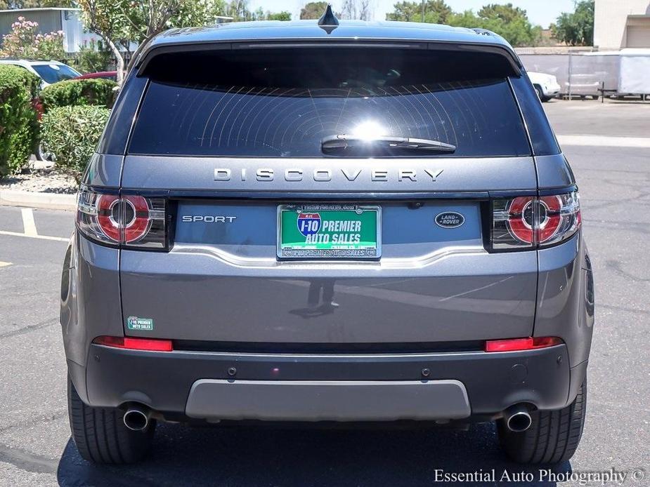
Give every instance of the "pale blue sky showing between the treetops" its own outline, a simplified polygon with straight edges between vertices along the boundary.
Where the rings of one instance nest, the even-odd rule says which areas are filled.
[[[342,0],[330,0],[337,10],[343,3]],[[370,0],[374,7],[375,20],[384,20],[386,12],[393,11],[393,5],[401,0]],[[524,8],[528,12],[528,18],[533,24],[541,25],[547,28],[551,22],[554,22],[557,16],[562,12],[573,11],[573,0],[446,0],[447,4],[454,11],[464,11],[468,9],[479,11],[486,4],[513,4],[516,7]],[[307,0],[250,0],[251,10],[260,7],[264,11],[280,12],[289,11],[292,18],[300,18],[300,8],[306,4]]]

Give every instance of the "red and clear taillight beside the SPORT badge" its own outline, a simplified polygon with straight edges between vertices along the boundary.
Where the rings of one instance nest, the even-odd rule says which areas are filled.
[[[162,198],[79,190],[77,226],[84,235],[105,244],[166,248],[165,218]]]

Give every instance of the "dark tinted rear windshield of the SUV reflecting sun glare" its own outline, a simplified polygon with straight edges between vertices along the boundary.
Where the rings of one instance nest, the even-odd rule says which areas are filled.
[[[324,138],[434,140],[328,156],[530,154],[502,55],[396,48],[268,48],[159,55],[129,153],[323,157]]]

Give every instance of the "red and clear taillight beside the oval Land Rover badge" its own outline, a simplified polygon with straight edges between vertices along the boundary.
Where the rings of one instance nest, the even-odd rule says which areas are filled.
[[[550,246],[568,239],[580,228],[580,196],[573,191],[495,199],[492,220],[493,251]]]

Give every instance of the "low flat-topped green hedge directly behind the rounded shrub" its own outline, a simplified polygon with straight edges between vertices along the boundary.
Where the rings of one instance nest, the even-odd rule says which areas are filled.
[[[111,108],[117,83],[110,79],[68,79],[46,86],[41,91],[43,109],[69,105],[102,105]]]

